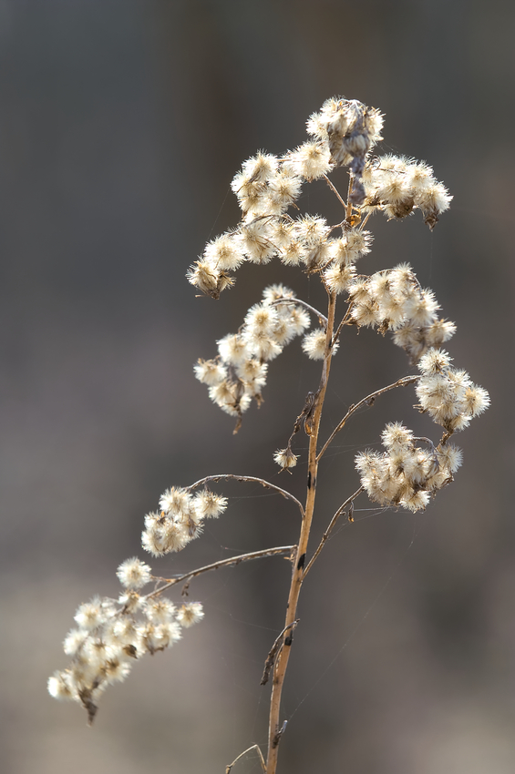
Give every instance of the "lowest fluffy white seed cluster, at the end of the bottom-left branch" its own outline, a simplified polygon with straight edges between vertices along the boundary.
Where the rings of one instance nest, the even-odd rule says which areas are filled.
[[[204,616],[200,602],[177,609],[169,599],[141,596],[139,589],[149,583],[151,571],[137,558],[119,565],[117,575],[124,587],[118,600],[96,596],[77,608],[77,628],[63,643],[71,663],[48,679],[50,695],[82,704],[90,723],[109,685],[124,680],[146,653],[172,646],[182,627]]]

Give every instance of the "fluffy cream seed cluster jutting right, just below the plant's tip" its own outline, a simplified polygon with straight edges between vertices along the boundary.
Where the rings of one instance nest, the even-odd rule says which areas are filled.
[[[382,210],[387,218],[406,218],[413,209],[422,210],[430,229],[452,199],[448,189],[424,161],[405,156],[383,156],[368,162],[363,173],[366,199],[364,211]]]

